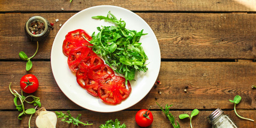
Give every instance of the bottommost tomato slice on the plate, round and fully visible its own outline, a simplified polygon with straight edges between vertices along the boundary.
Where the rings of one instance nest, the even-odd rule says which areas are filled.
[[[132,87],[129,81],[126,89],[124,77],[105,75],[99,82],[98,96],[102,101],[116,105],[129,97],[131,90]]]

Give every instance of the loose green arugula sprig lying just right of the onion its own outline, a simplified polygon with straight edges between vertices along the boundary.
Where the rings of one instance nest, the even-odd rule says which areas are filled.
[[[89,124],[87,121],[86,121],[86,123],[83,123],[83,122],[79,121],[81,114],[78,114],[77,117],[74,118],[70,114],[69,110],[67,111],[67,115],[62,113],[62,111],[60,111],[60,112],[55,111],[55,114],[57,115],[58,118],[63,118],[63,119],[61,119],[61,121],[63,121],[63,122],[73,123],[74,125],[77,125],[77,126],[78,126],[78,124],[92,125],[92,124]]]

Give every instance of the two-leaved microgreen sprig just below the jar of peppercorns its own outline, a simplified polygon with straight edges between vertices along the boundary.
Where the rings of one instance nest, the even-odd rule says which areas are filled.
[[[38,51],[38,41],[36,43],[37,43],[36,52],[34,53],[34,55],[32,55],[32,57],[28,58],[28,55],[25,52],[23,52],[23,51],[19,52],[20,59],[24,60],[24,61],[27,61],[27,63],[26,63],[26,70],[27,71],[29,71],[33,66],[33,63],[30,59],[35,57],[35,55]]]

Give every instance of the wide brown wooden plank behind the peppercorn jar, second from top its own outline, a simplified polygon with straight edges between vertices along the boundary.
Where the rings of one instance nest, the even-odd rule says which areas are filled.
[[[50,59],[54,37],[75,13],[0,14],[0,59],[31,56],[36,43],[26,37],[23,27],[29,17],[42,15],[54,22],[49,38],[41,42],[34,59]],[[256,14],[247,13],[137,13],[153,29],[162,59],[254,59],[256,55]],[[13,20],[16,19],[16,20]],[[55,22],[59,19],[59,22]],[[166,22],[168,21],[168,22]],[[24,24],[23,24],[24,23]],[[188,26],[189,25],[189,26]],[[147,42],[143,42],[147,43]],[[10,52],[11,51],[11,52]]]

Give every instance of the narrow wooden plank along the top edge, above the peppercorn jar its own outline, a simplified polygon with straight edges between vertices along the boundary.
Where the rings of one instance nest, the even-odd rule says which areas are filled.
[[[19,4],[17,4],[19,3]],[[31,5],[33,3],[33,6]],[[91,6],[97,5],[115,5],[121,6],[134,11],[255,11],[250,6],[245,6],[236,1],[189,1],[189,0],[173,0],[173,1],[1,1],[0,11],[81,11]]]

